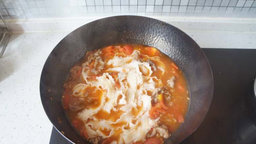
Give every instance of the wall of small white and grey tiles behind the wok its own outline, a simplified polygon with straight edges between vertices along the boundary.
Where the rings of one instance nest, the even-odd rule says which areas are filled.
[[[123,14],[256,17],[256,0],[2,0],[0,12],[6,19]]]

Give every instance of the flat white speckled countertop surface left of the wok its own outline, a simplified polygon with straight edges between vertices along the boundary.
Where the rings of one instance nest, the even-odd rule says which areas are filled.
[[[52,124],[40,99],[46,58],[68,32],[13,33],[0,59],[0,143],[49,143]]]

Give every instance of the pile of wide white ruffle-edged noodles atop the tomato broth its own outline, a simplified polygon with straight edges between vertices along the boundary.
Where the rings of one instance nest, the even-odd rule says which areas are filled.
[[[156,120],[151,120],[148,116],[148,111],[152,107],[152,99],[151,96],[147,95],[147,91],[162,87],[162,83],[157,77],[151,77],[153,71],[149,63],[139,61],[139,54],[139,51],[134,51],[127,57],[114,56],[107,63],[107,65],[112,65],[112,68],[106,70],[101,76],[96,76],[96,80],[88,79],[90,78],[90,70],[88,68],[83,69],[82,76],[87,84],[75,86],[74,94],[81,96],[84,94],[83,90],[88,86],[106,91],[101,98],[99,107],[85,109],[78,113],[78,118],[85,122],[89,138],[111,137],[119,129],[122,130],[122,133],[119,139],[112,143],[130,144],[144,140],[150,128],[157,125]],[[161,62],[160,57],[149,57],[149,59]],[[109,74],[110,72],[118,72],[119,88],[115,86],[115,80]],[[107,113],[110,113],[111,110],[121,110],[124,113],[116,121],[111,121],[96,118],[94,115],[100,110]],[[120,123],[122,124],[119,126]],[[116,124],[118,127],[114,126]],[[124,128],[127,125],[129,125],[129,129]],[[103,132],[105,130],[110,133],[106,134]]]

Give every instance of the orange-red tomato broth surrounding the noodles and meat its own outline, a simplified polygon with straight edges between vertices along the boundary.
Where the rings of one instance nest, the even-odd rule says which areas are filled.
[[[141,54],[148,55],[149,57],[152,57],[152,56],[160,57],[161,61],[165,64],[165,73],[161,75],[161,71],[157,69],[157,71],[154,71],[152,73],[152,76],[157,76],[157,78],[162,81],[163,86],[167,86],[167,80],[170,79],[170,77],[175,76],[176,80],[174,85],[174,92],[172,92],[170,88],[168,89],[168,92],[171,93],[172,95],[171,99],[166,100],[165,99],[166,95],[163,94],[163,103],[165,106],[168,107],[168,110],[165,110],[166,113],[159,113],[161,125],[167,126],[169,134],[173,134],[179,128],[181,123],[183,123],[187,113],[188,104],[189,104],[188,87],[187,87],[187,82],[183,73],[170,57],[160,52],[156,48],[152,48],[144,45],[138,45],[138,44],[112,45],[112,46],[103,48],[101,56],[103,60],[107,62],[109,59],[114,57],[114,53],[117,53],[119,56],[130,55],[132,51],[129,49],[128,50],[124,49],[126,46],[131,46],[132,51],[138,50],[140,51]],[[111,48],[111,50],[109,48]],[[87,61],[88,54],[92,52],[95,52],[95,51],[87,52],[86,55],[75,66],[81,67],[81,64]],[[141,58],[144,61],[147,60],[146,57],[141,56]],[[155,62],[155,64],[156,66],[158,66],[157,62]],[[106,65],[105,69],[102,70],[99,73],[99,75],[102,75],[102,73],[104,73],[105,70],[107,70],[108,68],[109,66]],[[65,88],[65,92],[63,93],[63,97],[62,97],[62,105],[69,121],[71,122],[75,130],[78,131],[81,136],[83,136],[84,138],[87,138],[88,135],[83,131],[84,123],[82,120],[79,120],[76,116],[80,111],[86,108],[97,107],[98,104],[100,103],[100,99],[101,99],[100,97],[102,96],[103,92],[100,92],[98,90],[96,91],[96,93],[92,94],[95,88],[88,88],[86,92],[89,93],[91,97],[96,97],[95,100],[90,103],[86,101],[84,101],[83,103],[80,103],[80,106],[83,107],[83,109],[80,111],[76,111],[76,112],[70,111],[68,108],[68,105],[78,101],[78,99],[74,95],[72,95],[71,90],[75,85],[79,83],[86,83],[83,77],[81,76],[81,74],[79,74],[80,73],[79,70],[77,71],[77,73],[78,73],[78,76],[77,78],[75,78],[75,80],[69,77],[66,82],[68,85],[70,84],[71,87]],[[91,79],[93,79],[95,76],[93,74],[91,75],[92,75]],[[150,95],[150,92],[148,94]],[[153,100],[151,103],[152,103],[152,107],[156,105],[156,103]],[[108,114],[105,111],[101,110],[99,113],[96,114],[96,117],[100,119],[106,119],[106,120],[117,120],[122,113],[123,112],[121,111],[115,112],[111,110],[111,113]],[[134,111],[135,115],[136,113],[138,112]],[[122,126],[122,123],[113,124],[113,126],[120,127]],[[102,131],[102,132],[109,134],[108,131]],[[117,130],[117,132],[112,137],[105,139],[105,141],[103,140],[104,141],[103,143],[110,143],[112,140],[117,140],[120,133],[121,131]],[[160,137],[160,135],[157,135],[156,137],[164,141],[164,139]],[[152,138],[151,138],[150,142],[154,142],[154,139],[152,141]],[[141,142],[141,143],[144,143],[144,142]]]

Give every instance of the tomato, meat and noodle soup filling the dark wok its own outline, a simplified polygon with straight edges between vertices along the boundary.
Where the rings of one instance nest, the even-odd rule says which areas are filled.
[[[71,125],[95,144],[161,144],[184,122],[189,103],[174,61],[137,44],[88,51],[63,86]]]

